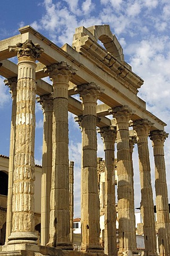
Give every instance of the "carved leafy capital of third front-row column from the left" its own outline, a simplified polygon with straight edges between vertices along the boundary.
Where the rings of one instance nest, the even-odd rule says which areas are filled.
[[[99,98],[99,95],[103,92],[103,89],[100,88],[95,82],[91,82],[89,84],[81,84],[74,87],[74,91],[80,94],[80,98],[85,98],[87,100]],[[94,100],[96,100],[94,99]]]

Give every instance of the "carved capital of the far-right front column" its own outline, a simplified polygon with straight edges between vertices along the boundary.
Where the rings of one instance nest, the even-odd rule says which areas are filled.
[[[151,131],[149,133],[149,138],[152,141],[152,146],[164,145],[164,142],[166,138],[168,138],[168,135],[169,134],[163,130]]]

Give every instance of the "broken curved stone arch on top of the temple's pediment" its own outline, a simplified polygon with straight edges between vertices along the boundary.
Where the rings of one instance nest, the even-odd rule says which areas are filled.
[[[98,25],[87,28],[90,33],[104,44],[106,50],[110,52],[115,58],[124,61],[124,54],[121,44],[118,42],[115,35],[112,34],[109,25]]]

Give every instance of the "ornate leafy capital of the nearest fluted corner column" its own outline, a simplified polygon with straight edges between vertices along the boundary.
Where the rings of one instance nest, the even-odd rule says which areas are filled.
[[[19,61],[32,60],[35,61],[44,52],[39,44],[33,44],[32,40],[27,39],[24,43],[17,43],[14,46],[8,46],[10,52],[17,53]]]

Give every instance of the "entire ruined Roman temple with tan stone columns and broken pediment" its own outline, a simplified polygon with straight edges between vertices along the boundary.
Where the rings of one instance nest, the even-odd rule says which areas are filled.
[[[138,97],[143,80],[124,61],[108,25],[79,27],[72,46],[58,47],[30,26],[0,41],[0,75],[12,93],[6,241],[8,255],[139,255],[135,242],[133,146],[138,145],[145,256],[157,256],[148,137],[155,159],[159,255],[169,256],[169,209],[164,160],[166,125]],[[98,44],[98,40],[104,47]],[[18,65],[8,60],[18,57]],[[42,78],[50,77],[50,85]],[[36,99],[36,94],[39,95]],[[80,95],[81,101],[75,99]],[[98,101],[98,99],[100,101]],[[41,245],[35,233],[35,103],[44,115]],[[82,134],[81,252],[73,251],[73,203],[69,168],[68,111]],[[110,119],[107,116],[112,115]],[[133,129],[129,129],[129,127]],[[105,247],[99,243],[97,131],[105,151]],[[117,145],[117,212],[114,150]],[[70,170],[70,173],[69,173]],[[70,174],[70,176],[69,176]],[[91,254],[94,253],[94,254]]]

